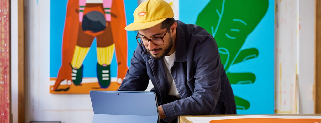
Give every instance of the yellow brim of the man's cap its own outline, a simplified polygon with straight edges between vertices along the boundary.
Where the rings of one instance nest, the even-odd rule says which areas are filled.
[[[162,19],[159,19],[159,20],[143,22],[143,23],[135,23],[135,22],[133,22],[133,23],[127,25],[125,27],[125,30],[127,30],[127,31],[136,31],[136,30],[148,29],[148,28],[151,28],[153,26],[156,26],[157,24],[160,24],[161,22],[163,22],[167,18],[168,17],[162,18]]]

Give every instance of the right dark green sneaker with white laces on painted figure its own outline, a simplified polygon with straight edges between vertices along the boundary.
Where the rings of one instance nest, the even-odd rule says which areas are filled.
[[[97,63],[97,78],[100,87],[107,88],[110,85],[110,65]]]

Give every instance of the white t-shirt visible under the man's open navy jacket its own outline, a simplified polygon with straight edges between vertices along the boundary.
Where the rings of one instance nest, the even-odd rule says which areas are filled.
[[[175,52],[169,56],[164,56],[164,64],[165,64],[165,72],[167,76],[167,81],[169,82],[169,95],[176,96],[177,98],[180,98],[178,94],[177,87],[175,85],[174,79],[172,77],[172,74],[170,72],[170,68],[172,67],[175,59]]]

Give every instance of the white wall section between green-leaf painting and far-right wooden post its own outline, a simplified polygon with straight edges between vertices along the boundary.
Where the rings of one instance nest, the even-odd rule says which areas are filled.
[[[315,0],[276,4],[275,113],[314,113]]]

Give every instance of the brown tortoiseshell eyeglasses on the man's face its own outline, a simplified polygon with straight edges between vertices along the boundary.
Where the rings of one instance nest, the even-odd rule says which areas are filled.
[[[154,45],[158,45],[158,46],[164,45],[163,39],[164,39],[167,31],[169,30],[169,28],[167,28],[163,37],[153,37],[151,39],[148,39],[147,37],[138,37],[138,35],[139,35],[139,31],[138,31],[137,36],[136,36],[136,40],[137,40],[138,44],[144,45],[144,46],[148,45],[148,41],[151,41]]]

